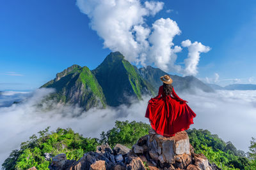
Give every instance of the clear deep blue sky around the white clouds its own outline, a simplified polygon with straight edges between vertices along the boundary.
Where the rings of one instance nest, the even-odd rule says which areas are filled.
[[[256,83],[256,1],[163,2],[156,15],[143,17],[143,25],[170,18],[181,31],[175,45],[189,39],[209,46],[200,53],[197,78],[219,85]],[[71,0],[1,1],[0,90],[36,89],[72,64],[97,67],[111,50],[103,48],[99,27],[92,29],[93,17]],[[182,47],[175,64],[184,67],[187,56]]]

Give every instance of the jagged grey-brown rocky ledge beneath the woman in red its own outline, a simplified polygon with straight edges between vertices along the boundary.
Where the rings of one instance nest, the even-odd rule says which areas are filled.
[[[69,170],[218,170],[215,164],[210,164],[201,153],[194,153],[189,143],[186,131],[178,132],[175,136],[165,138],[150,130],[148,135],[141,137],[129,148],[117,144],[113,150],[108,144],[97,146],[96,152],[85,153],[76,160],[67,160],[64,153],[52,158],[49,169]]]

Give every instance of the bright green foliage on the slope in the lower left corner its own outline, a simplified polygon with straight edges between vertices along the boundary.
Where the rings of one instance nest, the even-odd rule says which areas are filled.
[[[44,153],[50,153],[52,157],[65,153],[67,159],[78,160],[83,154],[95,151],[99,145],[96,138],[83,138],[72,129],[58,128],[56,132],[49,132],[49,127],[34,134],[29,141],[21,143],[20,150],[13,150],[8,159],[2,164],[3,169],[28,169],[35,166],[36,169],[48,169],[50,162],[45,160]]]

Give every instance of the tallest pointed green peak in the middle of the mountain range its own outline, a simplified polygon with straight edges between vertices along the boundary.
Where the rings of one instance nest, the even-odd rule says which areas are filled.
[[[129,104],[143,94],[154,93],[154,87],[141,78],[120,52],[111,52],[92,73],[97,78],[109,106]]]

